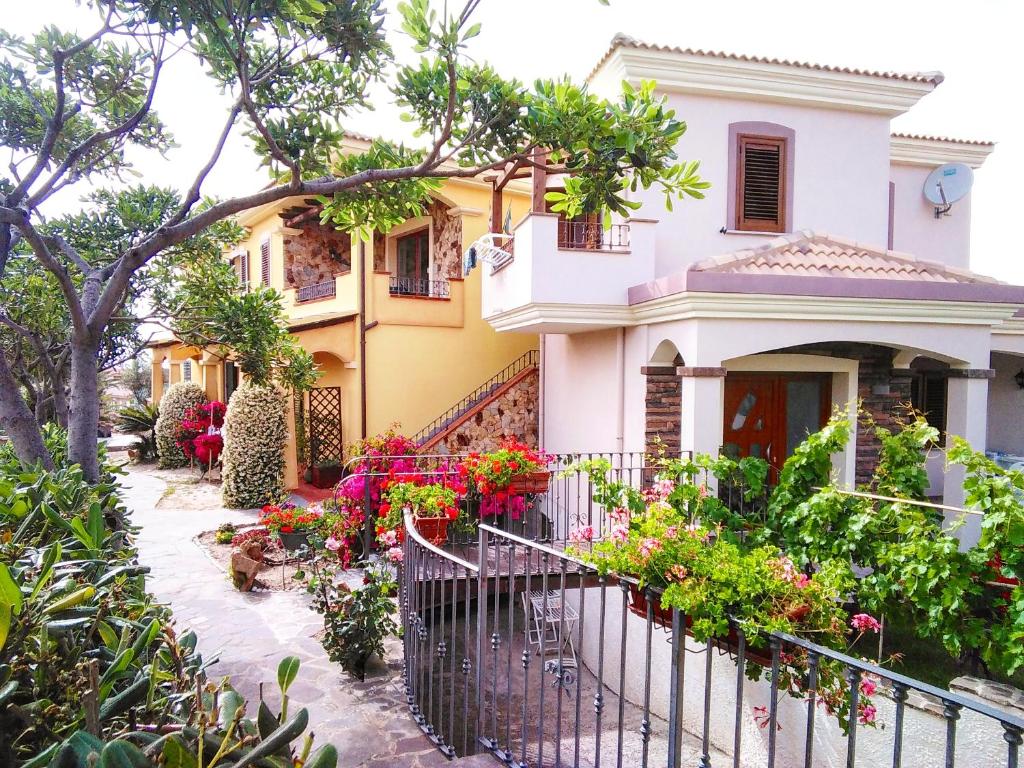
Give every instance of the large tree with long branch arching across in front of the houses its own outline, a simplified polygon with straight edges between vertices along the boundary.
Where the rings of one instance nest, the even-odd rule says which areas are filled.
[[[59,290],[70,336],[69,450],[88,478],[99,473],[96,360],[133,282],[159,254],[234,214],[319,197],[325,220],[365,237],[421,210],[439,179],[528,166],[537,152],[573,174],[555,201],[570,213],[627,212],[637,187],[659,187],[668,201],[701,196],[696,164],[675,154],[686,126],[650,86],[606,101],[567,80],[525,87],[505,79],[467,55],[478,3],[456,13],[446,5],[438,13],[428,0],[399,4],[401,30],[421,54],[409,66],[394,62],[380,0],[94,0],[99,22],[85,37],[56,27],[28,39],[0,32],[0,145],[10,153],[0,176],[0,280],[20,246]],[[46,211],[61,190],[129,173],[130,147],[171,144],[153,104],[164,66],[178,53],[196,56],[230,94],[209,158],[174,205],[139,222],[137,237],[83,251],[46,226]],[[425,148],[374,141],[339,156],[341,121],[385,80]],[[203,205],[207,177],[241,130],[274,182]],[[3,350],[0,425],[23,459],[48,463],[14,370]]]

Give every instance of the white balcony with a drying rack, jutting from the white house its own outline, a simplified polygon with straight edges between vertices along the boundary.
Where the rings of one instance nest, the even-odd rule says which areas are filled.
[[[628,289],[654,276],[651,219],[605,229],[530,213],[512,238],[478,243],[483,317],[498,331],[578,333],[629,322]]]

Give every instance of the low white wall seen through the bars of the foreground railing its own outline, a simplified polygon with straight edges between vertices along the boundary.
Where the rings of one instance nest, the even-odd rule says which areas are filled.
[[[604,625],[604,681],[611,691],[620,689],[618,666],[626,659],[626,698],[642,707],[644,701],[644,669],[647,626],[646,621],[632,613],[625,613],[626,647],[622,646],[622,593],[617,586],[606,587],[606,620]],[[585,591],[585,615],[600,615],[600,588]],[[579,609],[579,595],[573,590],[568,601]],[[597,669],[598,646],[602,633],[591,627],[582,637],[574,637],[580,662],[592,672]],[[672,680],[671,636],[654,629],[651,640],[650,701],[651,712],[662,720],[669,716],[669,691]],[[683,728],[697,737],[703,726],[705,674],[708,652],[706,646],[692,638],[686,639],[684,662],[685,686],[683,689]],[[736,706],[736,664],[718,649],[713,649],[712,662],[712,718],[710,737],[712,745],[733,754],[733,735]],[[744,680],[743,707],[740,727],[742,766],[767,765],[768,732],[755,721],[754,708],[769,705],[770,687],[767,680]],[[876,728],[857,730],[857,765],[890,765],[892,763],[893,723],[895,703],[884,693],[877,693],[872,700],[878,708]],[[779,696],[775,765],[804,765],[804,739],[807,726],[807,703],[786,694]],[[653,737],[667,738],[665,724],[655,721]],[[904,759],[914,766],[942,765],[945,759],[945,721],[939,715],[907,708],[904,721]],[[815,768],[840,768],[846,765],[846,738],[835,718],[817,709],[814,725]],[[1006,762],[1006,742],[997,723],[964,711],[956,727],[956,765],[963,768],[989,768]]]

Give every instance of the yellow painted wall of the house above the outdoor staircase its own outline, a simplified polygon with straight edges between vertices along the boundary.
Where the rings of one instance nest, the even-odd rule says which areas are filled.
[[[447,181],[438,198],[462,216],[462,251],[489,230],[490,186],[486,183]],[[274,208],[250,212],[241,221],[251,228],[250,238],[240,248],[249,251],[250,283],[260,283],[260,243],[271,244],[270,285],[284,290],[284,222],[278,215],[283,208],[300,201],[287,201]],[[529,206],[528,193],[507,189],[504,211],[511,205],[512,221],[521,219]],[[338,275],[338,295],[334,299],[297,303],[295,291],[284,291],[285,308],[293,321],[319,318],[353,311],[358,306],[358,247],[353,244],[352,269]],[[390,296],[388,278],[374,273],[372,249],[367,248],[367,420],[368,433],[376,434],[393,423],[413,434],[485,380],[499,373],[519,355],[538,348],[538,338],[530,334],[498,334],[480,317],[480,280],[478,266],[465,280],[451,282],[451,297],[435,298]],[[376,325],[373,325],[376,324]],[[358,317],[336,325],[301,331],[296,334],[302,346],[322,365],[319,386],[342,389],[342,424],[346,443],[360,437]],[[160,350],[161,352],[163,350]],[[195,354],[180,346],[170,348],[172,360]],[[159,375],[155,355],[154,379]],[[175,378],[172,364],[171,380]],[[198,368],[198,367],[197,367]],[[212,381],[220,387],[223,373],[207,373],[208,389]],[[178,375],[180,372],[178,371]],[[211,378],[212,377],[212,378]],[[155,388],[156,392],[157,389]],[[211,396],[213,396],[211,394]],[[290,429],[294,430],[294,425]],[[294,431],[293,431],[294,434]],[[290,446],[287,478],[289,487],[298,481]]]

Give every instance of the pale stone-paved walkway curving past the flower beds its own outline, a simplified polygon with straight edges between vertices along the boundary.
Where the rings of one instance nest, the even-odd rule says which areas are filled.
[[[251,702],[263,684],[274,708],[278,663],[298,656],[291,707],[309,710],[316,743],[338,748],[339,768],[451,765],[409,716],[398,640],[389,643],[387,669],[360,683],[328,659],[315,637],[322,618],[304,592],[237,592],[194,541],[223,522],[254,522],[255,512],[222,509],[219,486],[197,485],[184,472],[131,468],[124,484],[132,520],[141,527],[139,557],[153,569],[150,590],[170,605],[179,631],[196,630],[204,656],[219,658],[212,675],[230,677]]]

